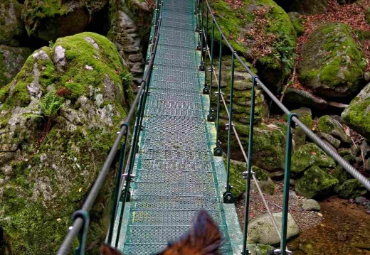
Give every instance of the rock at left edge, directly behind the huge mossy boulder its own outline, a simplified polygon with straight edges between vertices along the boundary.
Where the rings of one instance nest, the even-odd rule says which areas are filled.
[[[13,80],[31,53],[29,48],[0,45],[0,88]]]

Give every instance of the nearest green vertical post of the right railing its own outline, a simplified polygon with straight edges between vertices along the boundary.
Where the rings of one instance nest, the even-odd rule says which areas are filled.
[[[290,178],[290,161],[292,159],[292,118],[298,117],[297,114],[287,114],[287,140],[285,143],[285,171],[284,171],[284,200],[282,204],[282,227],[281,227],[281,255],[287,253],[287,214],[289,206],[289,178]]]

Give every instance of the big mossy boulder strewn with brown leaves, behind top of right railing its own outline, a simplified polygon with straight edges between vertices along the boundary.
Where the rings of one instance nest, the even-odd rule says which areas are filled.
[[[287,13],[273,0],[238,3],[238,8],[223,0],[212,0],[210,4],[234,50],[248,60],[256,60],[261,79],[280,89],[295,61],[295,28]],[[215,33],[215,36],[219,40],[221,35]]]

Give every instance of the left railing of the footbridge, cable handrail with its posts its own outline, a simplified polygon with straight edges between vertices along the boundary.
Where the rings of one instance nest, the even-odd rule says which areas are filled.
[[[153,33],[153,38],[152,38],[152,44],[150,45],[150,50],[149,50],[149,54],[150,54],[149,63],[144,73],[144,77],[140,82],[137,95],[134,99],[134,102],[132,103],[132,107],[129,109],[129,113],[127,114],[127,117],[124,119],[124,121],[122,121],[122,125],[120,126],[120,131],[117,132],[117,137],[115,139],[115,142],[113,143],[113,146],[110,149],[110,153],[108,154],[107,159],[105,160],[105,163],[102,166],[100,173],[97,176],[97,179],[95,180],[95,183],[88,194],[88,197],[83,203],[82,209],[76,211],[73,214],[73,225],[69,228],[69,232],[67,233],[63,243],[58,249],[58,253],[57,253],[58,255],[68,254],[76,237],[78,237],[79,246],[78,248],[75,249],[75,254],[78,254],[78,255],[85,254],[85,242],[86,242],[86,236],[88,232],[88,225],[90,222],[88,212],[91,210],[91,207],[93,207],[97,194],[100,192],[102,185],[105,179],[107,178],[108,173],[110,173],[110,168],[115,159],[117,151],[121,147],[120,148],[120,163],[119,163],[119,167],[117,170],[115,194],[114,194],[114,200],[113,200],[113,206],[112,206],[112,218],[110,221],[110,228],[107,234],[107,243],[111,244],[112,242],[112,234],[113,234],[113,228],[114,228],[113,226],[115,223],[115,217],[117,215],[117,208],[121,200],[121,196],[122,196],[121,190],[122,190],[124,183],[126,183],[124,200],[122,202],[122,212],[123,212],[124,207],[125,207],[125,201],[127,200],[127,193],[129,190],[130,179],[132,177],[131,175],[132,175],[132,168],[134,166],[134,155],[137,153],[136,145],[137,145],[139,134],[142,128],[142,119],[144,117],[145,102],[147,99],[149,83],[152,77],[154,59],[155,59],[155,54],[157,52],[157,45],[159,41],[159,28],[162,24],[162,3],[163,2],[160,0],[156,1],[156,6],[154,9],[154,33]],[[135,112],[137,116],[136,116],[136,125],[134,126],[134,140],[132,141],[132,147],[131,147],[133,149],[130,150],[129,161],[127,162],[125,173],[122,175],[122,171],[123,171],[124,164],[125,164],[125,154],[126,154],[125,151],[126,151],[126,146],[127,146],[127,134],[129,131],[129,123],[132,121],[132,118],[134,117]],[[124,137],[125,137],[125,140],[122,143],[122,138]],[[122,212],[121,212],[121,217],[122,217]],[[120,219],[120,223],[121,222],[122,222],[122,218]],[[116,247],[117,247],[117,240],[119,239],[119,233],[120,231],[117,232]]]

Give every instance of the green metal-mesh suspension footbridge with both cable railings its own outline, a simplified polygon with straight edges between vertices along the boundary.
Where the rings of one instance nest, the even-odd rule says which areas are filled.
[[[287,185],[284,188],[282,226],[277,226],[263,193],[258,188],[258,182],[255,181],[261,200],[265,202],[276,234],[281,240],[280,249],[275,251],[276,254],[290,252],[286,249],[286,232],[292,139],[290,129],[293,124],[300,126],[310,139],[370,190],[369,180],[313,134],[295,114],[291,114],[243,63],[223,35],[206,0],[198,0],[195,3],[184,0],[157,0],[152,25],[147,53],[148,63],[137,97],[127,119],[117,132],[117,139],[82,209],[73,214],[73,226],[70,227],[58,254],[68,254],[75,238],[79,241],[75,254],[85,253],[90,221],[88,212],[118,151],[120,162],[107,244],[120,249],[125,255],[155,254],[164,249],[169,241],[179,239],[188,231],[197,212],[204,209],[217,222],[223,234],[221,254],[248,254],[246,243],[250,180],[255,180],[250,159],[253,152],[256,86],[263,89],[282,112],[288,114],[285,148]],[[209,27],[211,33],[208,33]],[[213,72],[215,30],[221,34],[218,75]],[[211,34],[210,43],[207,41],[208,34]],[[230,48],[233,53],[229,106],[223,97],[219,82],[223,45]],[[247,153],[232,122],[233,72],[236,61],[250,73],[253,82]],[[216,111],[213,111],[211,106],[211,87],[206,82],[207,71],[211,72],[211,83],[213,78],[218,82]],[[229,116],[226,167],[218,141],[221,106],[226,107]],[[132,122],[134,131],[131,146],[128,146],[127,134]],[[243,233],[240,230],[229,183],[232,135],[236,136],[248,166],[243,173],[243,177],[247,179]],[[127,151],[129,153],[126,153]]]

